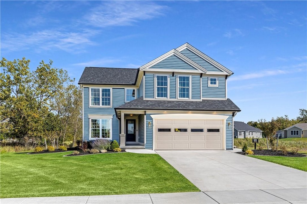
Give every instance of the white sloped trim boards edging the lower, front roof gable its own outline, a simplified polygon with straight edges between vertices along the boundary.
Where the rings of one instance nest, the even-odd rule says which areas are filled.
[[[192,61],[191,59],[188,59],[185,55],[182,55],[180,52],[178,52],[177,50],[173,49],[167,53],[165,53],[164,55],[161,55],[160,57],[152,60],[151,62],[148,62],[147,64],[143,65],[140,67],[140,71],[144,70],[144,69],[148,69],[152,66],[154,66],[155,64],[163,61],[164,59],[175,55],[176,57],[178,57],[179,59],[181,59],[182,61],[186,62],[187,64],[189,64],[190,66],[200,70],[200,72],[202,73],[207,73],[207,70],[204,69],[204,67],[200,66],[199,64],[195,63],[194,61]],[[160,70],[163,71],[163,70]],[[174,71],[174,70],[173,70]]]

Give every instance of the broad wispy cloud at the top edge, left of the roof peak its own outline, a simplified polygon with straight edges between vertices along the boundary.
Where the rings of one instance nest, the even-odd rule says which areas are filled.
[[[166,8],[147,1],[110,1],[92,9],[84,19],[87,24],[96,27],[132,25],[140,20],[161,16]]]

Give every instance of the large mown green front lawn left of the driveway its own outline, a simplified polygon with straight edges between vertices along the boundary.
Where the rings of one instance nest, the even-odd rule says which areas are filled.
[[[157,154],[68,153],[1,154],[0,197],[200,191]]]

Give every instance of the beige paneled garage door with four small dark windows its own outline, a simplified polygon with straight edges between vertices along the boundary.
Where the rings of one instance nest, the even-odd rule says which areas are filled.
[[[223,120],[156,119],[154,149],[223,149]]]

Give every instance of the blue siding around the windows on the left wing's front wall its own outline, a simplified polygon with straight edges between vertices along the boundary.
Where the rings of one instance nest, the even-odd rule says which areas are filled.
[[[112,140],[117,140],[119,142],[119,120],[116,118],[114,108],[124,104],[125,99],[125,89],[112,89],[112,107],[89,107],[89,88],[83,88],[84,94],[84,132],[83,139],[84,141],[89,141],[89,118],[88,114],[95,115],[113,115],[112,119]]]

